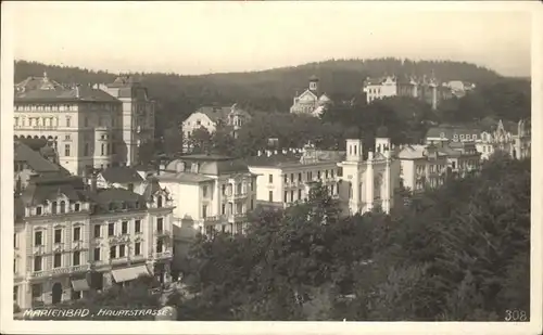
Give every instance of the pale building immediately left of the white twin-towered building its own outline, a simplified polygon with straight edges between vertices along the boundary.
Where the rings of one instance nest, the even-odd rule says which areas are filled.
[[[247,159],[256,175],[256,199],[260,204],[286,207],[310,195],[314,182],[320,181],[330,194],[339,197],[338,163],[344,153],[319,151],[307,144],[299,151],[265,151]]]

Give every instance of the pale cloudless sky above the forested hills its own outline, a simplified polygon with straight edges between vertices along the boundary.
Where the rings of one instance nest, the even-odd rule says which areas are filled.
[[[535,3],[536,5],[538,3]],[[3,2],[16,60],[180,75],[330,59],[465,61],[530,75],[526,7],[352,2]],[[505,8],[504,8],[505,7]],[[492,10],[491,10],[492,9]]]

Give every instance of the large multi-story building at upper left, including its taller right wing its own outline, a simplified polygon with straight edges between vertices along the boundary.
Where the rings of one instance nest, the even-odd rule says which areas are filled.
[[[47,140],[61,166],[74,175],[90,167],[135,164],[138,139],[154,136],[154,107],[144,88],[134,82],[122,87],[119,80],[94,88],[66,87],[45,74],[17,83],[15,139]]]

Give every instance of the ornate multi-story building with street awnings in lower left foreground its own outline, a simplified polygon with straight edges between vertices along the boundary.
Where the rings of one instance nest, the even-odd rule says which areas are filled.
[[[75,176],[33,177],[15,195],[13,300],[54,305],[139,275],[167,281],[172,201],[88,188]]]

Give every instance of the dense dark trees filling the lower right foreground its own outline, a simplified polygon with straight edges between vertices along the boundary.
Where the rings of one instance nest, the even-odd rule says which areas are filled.
[[[390,216],[308,202],[201,236],[181,320],[504,320],[529,313],[530,162],[496,155]],[[350,295],[351,298],[345,297]]]

